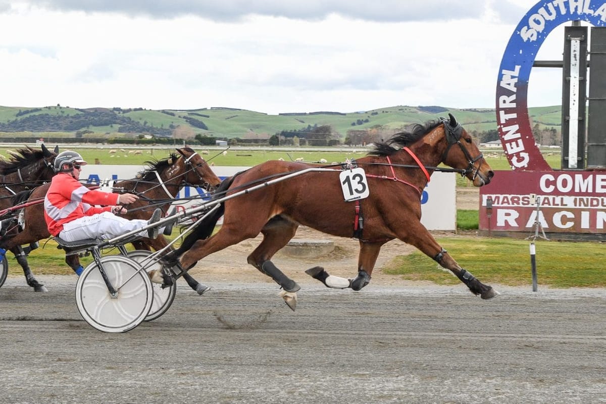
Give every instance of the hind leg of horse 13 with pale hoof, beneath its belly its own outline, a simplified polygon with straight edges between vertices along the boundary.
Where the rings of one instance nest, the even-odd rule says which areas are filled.
[[[261,230],[263,240],[247,259],[250,265],[270,276],[284,289],[281,294],[282,299],[293,311],[295,311],[297,304],[296,292],[301,289],[301,286],[282,273],[270,259],[288,243],[288,240],[295,236],[298,227],[296,223],[282,217],[274,217]]]

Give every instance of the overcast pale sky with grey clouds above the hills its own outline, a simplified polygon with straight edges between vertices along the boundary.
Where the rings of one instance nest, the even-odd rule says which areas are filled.
[[[505,47],[534,3],[0,0],[0,105],[494,108]],[[537,59],[561,60],[562,43],[553,30]],[[528,105],[561,104],[561,81],[534,68]]]

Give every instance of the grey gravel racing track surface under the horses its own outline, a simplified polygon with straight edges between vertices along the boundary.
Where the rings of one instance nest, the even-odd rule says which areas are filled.
[[[1,403],[606,403],[604,290],[300,282],[179,285],[124,334],[79,316],[75,276],[0,289]],[[298,279],[299,280],[299,279]]]

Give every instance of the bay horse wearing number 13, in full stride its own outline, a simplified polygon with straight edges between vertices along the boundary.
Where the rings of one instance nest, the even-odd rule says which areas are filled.
[[[311,171],[318,165],[268,161],[233,177],[221,208],[214,216],[201,219],[178,250],[164,257],[165,268],[179,265],[188,270],[198,260],[244,239],[263,234],[261,244],[248,256],[248,263],[273,278],[283,289],[282,297],[294,310],[299,285],[271,262],[271,257],[295,236],[299,225],[327,234],[359,239],[358,276],[331,276],[321,267],[306,272],[326,286],[361,290],[370,282],[381,246],[393,239],[414,245],[442,267],[452,271],[473,294],[482,299],[498,296],[464,270],[421,224],[421,193],[430,174],[444,163],[481,187],[490,182],[493,171],[474,145],[471,136],[454,117],[415,125],[410,132],[378,142],[369,156],[333,170]],[[358,177],[340,177],[344,171],[364,168]],[[305,170],[296,179],[280,176]],[[444,170],[444,169],[442,169]],[[448,170],[448,169],[445,169]],[[452,171],[452,170],[451,170]],[[349,179],[348,179],[349,178]],[[365,199],[345,199],[345,187],[369,190]],[[262,190],[250,190],[251,187]],[[247,192],[241,191],[248,188]],[[342,191],[343,189],[343,191]],[[239,194],[236,194],[238,193]],[[233,197],[230,198],[230,195]],[[211,237],[216,219],[224,213],[220,230]],[[176,257],[180,257],[176,260]],[[170,282],[165,277],[165,282]]]

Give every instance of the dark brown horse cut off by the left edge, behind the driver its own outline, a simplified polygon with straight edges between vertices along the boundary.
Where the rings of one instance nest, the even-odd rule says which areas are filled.
[[[53,163],[58,153],[58,147],[54,151],[48,150],[42,144],[41,150],[24,148],[11,153],[9,161],[0,160],[0,210],[13,206],[12,198],[25,190],[32,190],[48,182],[55,175]],[[0,217],[2,220],[2,229],[0,230],[0,240],[18,230],[19,224],[16,217]],[[25,243],[24,243],[25,244]],[[45,286],[38,282],[33,276],[32,270],[27,263],[27,254],[21,245],[12,245],[6,248],[15,254],[15,259],[23,268],[27,285],[32,286],[36,292],[46,292]],[[0,251],[0,259],[6,259],[4,251]]]

